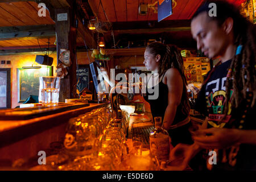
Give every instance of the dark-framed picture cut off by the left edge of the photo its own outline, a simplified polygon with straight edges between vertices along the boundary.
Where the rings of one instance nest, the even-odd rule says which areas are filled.
[[[11,108],[11,68],[0,68],[0,109]]]

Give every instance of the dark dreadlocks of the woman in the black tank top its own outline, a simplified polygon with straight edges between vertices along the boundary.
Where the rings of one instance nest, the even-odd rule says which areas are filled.
[[[181,108],[184,114],[188,114],[190,110],[187,93],[187,80],[184,75],[183,59],[176,46],[165,46],[162,43],[154,42],[147,46],[152,55],[160,55],[159,77],[163,76],[169,68],[176,68],[183,80],[183,93],[181,97]]]

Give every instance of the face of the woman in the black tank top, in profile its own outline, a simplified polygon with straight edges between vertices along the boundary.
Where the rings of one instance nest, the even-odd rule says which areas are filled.
[[[148,71],[154,71],[158,69],[158,61],[160,59],[159,56],[160,55],[154,56],[152,53],[150,53],[149,49],[145,50],[143,64],[145,65]]]

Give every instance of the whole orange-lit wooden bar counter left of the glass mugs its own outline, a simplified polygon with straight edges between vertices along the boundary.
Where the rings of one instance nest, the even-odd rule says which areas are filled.
[[[110,103],[63,103],[54,109],[48,107],[47,112],[45,107],[1,110],[0,167],[18,159],[35,158],[39,151],[47,151],[50,143],[63,141],[70,118],[98,107],[110,107]]]

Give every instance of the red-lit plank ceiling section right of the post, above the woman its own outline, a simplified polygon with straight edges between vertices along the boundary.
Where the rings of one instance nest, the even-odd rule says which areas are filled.
[[[153,9],[148,9],[146,15],[139,15],[138,7],[142,2],[153,4],[156,0],[89,0],[89,5],[98,19],[113,23],[115,42],[119,40],[122,42],[124,39],[138,41],[163,38],[168,40],[168,43],[177,44],[179,47],[196,47],[189,29],[189,19],[203,0],[176,0],[177,6],[173,9],[173,14],[160,23],[157,22],[158,14],[154,13]],[[132,22],[140,23],[134,26],[135,23]],[[148,26],[149,22],[152,26]],[[164,22],[168,22],[168,25]],[[163,26],[174,27],[174,30],[164,29]],[[104,37],[107,45],[113,48],[111,32],[105,33]]]

